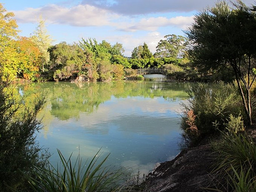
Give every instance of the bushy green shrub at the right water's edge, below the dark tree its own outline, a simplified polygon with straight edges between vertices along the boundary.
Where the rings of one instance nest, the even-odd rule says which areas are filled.
[[[181,129],[183,138],[188,145],[194,145],[200,139],[214,134],[217,130],[225,130],[229,115],[243,114],[241,99],[236,87],[231,84],[202,84],[192,86],[188,91],[188,103],[183,103],[185,113],[182,116]],[[190,119],[188,111],[195,115],[194,125],[197,132],[191,132],[187,122]],[[199,134],[197,134],[199,133]]]

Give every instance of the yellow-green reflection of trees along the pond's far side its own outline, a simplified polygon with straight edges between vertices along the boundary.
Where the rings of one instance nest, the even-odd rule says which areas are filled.
[[[186,99],[188,83],[155,82],[95,82],[72,84],[70,82],[46,82],[26,85],[25,94],[47,91],[51,102],[50,114],[61,119],[79,118],[79,113],[93,113],[99,105],[111,99],[126,97],[163,97],[168,100]],[[20,89],[20,87],[19,87]],[[47,112],[45,112],[47,113]]]

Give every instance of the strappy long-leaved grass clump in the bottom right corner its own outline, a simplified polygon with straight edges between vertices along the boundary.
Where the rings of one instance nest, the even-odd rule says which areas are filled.
[[[225,191],[255,191],[256,145],[245,132],[229,131],[213,145],[217,163],[213,174]],[[224,186],[224,188],[223,188]]]

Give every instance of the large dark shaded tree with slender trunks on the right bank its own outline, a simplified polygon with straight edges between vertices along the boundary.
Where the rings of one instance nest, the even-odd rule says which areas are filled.
[[[256,65],[256,15],[241,1],[233,7],[223,1],[195,16],[185,31],[193,43],[189,56],[198,68],[220,70],[231,66],[241,94],[248,123],[252,124],[250,90]]]

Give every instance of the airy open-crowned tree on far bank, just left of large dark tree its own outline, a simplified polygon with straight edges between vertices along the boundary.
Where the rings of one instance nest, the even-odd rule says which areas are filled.
[[[173,57],[182,58],[185,54],[187,38],[181,35],[165,35],[156,46],[156,58]]]

